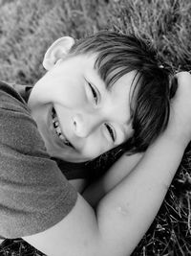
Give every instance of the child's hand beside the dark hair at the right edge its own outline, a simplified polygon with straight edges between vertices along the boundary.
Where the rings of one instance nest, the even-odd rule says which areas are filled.
[[[191,140],[191,75],[180,72],[176,78],[178,89],[171,100],[167,132],[186,147]]]

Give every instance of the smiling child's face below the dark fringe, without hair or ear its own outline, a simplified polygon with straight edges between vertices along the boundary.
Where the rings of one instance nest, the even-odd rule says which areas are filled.
[[[32,89],[32,117],[51,156],[91,160],[133,134],[129,94],[136,73],[124,75],[108,89],[95,60],[94,55],[81,55],[58,61]]]

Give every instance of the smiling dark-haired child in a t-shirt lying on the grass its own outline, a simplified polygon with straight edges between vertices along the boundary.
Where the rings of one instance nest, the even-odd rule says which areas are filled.
[[[166,128],[169,73],[159,68],[154,53],[151,61],[146,44],[131,36],[96,36],[97,48],[94,36],[87,45],[85,40],[73,46],[70,37],[53,44],[44,59],[49,71],[32,88],[29,107],[1,84],[0,235],[24,237],[48,255],[129,255],[157,214],[191,135],[190,75],[178,76],[180,88]],[[127,53],[115,43],[117,36],[120,43],[132,40]],[[159,97],[150,101],[160,111],[142,96],[149,96],[156,82]],[[129,139],[129,151],[152,146],[95,211],[46,152],[70,162],[87,161],[119,145],[126,148]],[[113,170],[124,170],[126,159]]]

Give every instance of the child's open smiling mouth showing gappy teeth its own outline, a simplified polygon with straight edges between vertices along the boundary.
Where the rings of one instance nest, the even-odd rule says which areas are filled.
[[[54,107],[52,108],[52,122],[53,122],[53,128],[55,130],[55,133],[57,135],[57,137],[60,139],[60,141],[68,146],[68,147],[71,147],[71,148],[74,148],[74,146],[70,143],[70,141],[66,138],[66,136],[62,133],[62,130],[59,126],[59,121],[58,121],[58,117],[57,117],[57,114],[55,112],[55,109]]]

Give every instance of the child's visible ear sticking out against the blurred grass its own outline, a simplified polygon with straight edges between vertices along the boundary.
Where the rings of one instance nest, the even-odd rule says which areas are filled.
[[[46,70],[52,69],[54,64],[61,58],[65,58],[72,46],[74,45],[74,38],[71,36],[63,36],[53,42],[53,44],[47,50],[44,59],[43,66]]]

